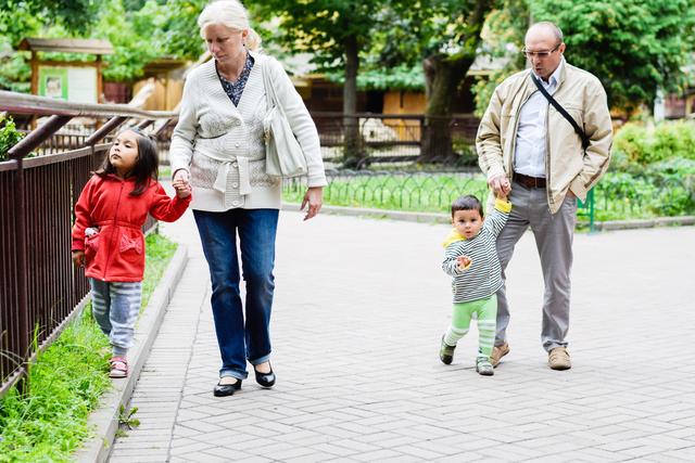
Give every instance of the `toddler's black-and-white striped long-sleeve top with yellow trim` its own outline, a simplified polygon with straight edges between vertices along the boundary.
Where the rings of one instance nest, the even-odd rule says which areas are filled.
[[[495,241],[504,228],[511,210],[511,203],[497,200],[495,208],[488,216],[478,236],[465,240],[454,230],[444,242],[446,247],[442,269],[454,278],[452,290],[454,303],[490,297],[502,286],[502,269]],[[471,263],[462,269],[456,258],[468,256]]]

